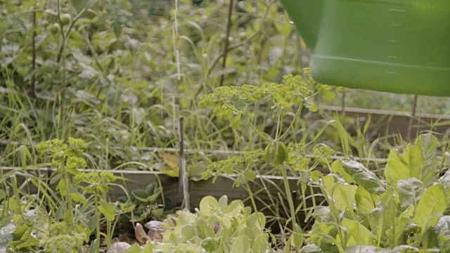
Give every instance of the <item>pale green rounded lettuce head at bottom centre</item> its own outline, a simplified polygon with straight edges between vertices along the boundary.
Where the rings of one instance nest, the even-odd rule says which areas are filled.
[[[177,212],[166,221],[162,242],[152,242],[153,252],[260,252],[269,250],[265,217],[251,212],[240,200],[228,203],[223,196],[204,197],[195,214]],[[145,249],[143,249],[145,250]]]

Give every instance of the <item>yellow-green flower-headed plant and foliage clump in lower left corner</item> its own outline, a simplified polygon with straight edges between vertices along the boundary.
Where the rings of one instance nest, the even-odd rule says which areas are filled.
[[[110,244],[112,231],[100,228],[103,224],[110,228],[116,220],[116,207],[108,202],[107,194],[117,177],[105,171],[79,171],[86,166],[86,148],[86,143],[76,138],[44,141],[36,150],[40,160],[50,161],[56,169],[50,178],[34,176],[26,169],[1,175],[1,185],[11,186],[13,192],[7,191],[0,203],[0,247],[15,252],[80,252],[91,234],[96,235],[91,244],[96,252],[101,237]],[[32,182],[38,194],[19,188],[18,177]],[[8,178],[13,181],[8,183]],[[6,231],[13,231],[13,236],[4,234]]]

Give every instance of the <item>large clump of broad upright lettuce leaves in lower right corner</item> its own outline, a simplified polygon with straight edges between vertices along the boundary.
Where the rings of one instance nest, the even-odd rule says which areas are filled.
[[[448,251],[441,230],[449,219],[448,172],[438,179],[437,147],[424,134],[402,155],[391,150],[382,177],[359,162],[335,161],[335,174],[314,180],[328,207],[316,210],[307,241],[326,252]]]

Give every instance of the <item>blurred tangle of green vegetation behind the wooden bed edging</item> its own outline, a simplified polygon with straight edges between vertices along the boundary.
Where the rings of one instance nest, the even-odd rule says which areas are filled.
[[[146,148],[176,147],[180,115],[187,148],[262,148],[198,100],[221,85],[302,74],[309,53],[278,1],[236,1],[229,11],[229,1],[219,0],[0,1],[0,162],[21,165],[24,143],[73,136],[89,143],[91,167],[158,164]],[[410,112],[413,103],[411,95],[314,85],[319,108]],[[264,105],[255,110],[260,129],[273,131]],[[416,112],[449,110],[448,98],[420,96]],[[319,131],[310,125],[304,136]]]

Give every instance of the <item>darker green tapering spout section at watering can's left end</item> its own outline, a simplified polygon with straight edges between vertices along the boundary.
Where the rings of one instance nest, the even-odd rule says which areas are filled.
[[[316,46],[324,0],[282,0],[285,10],[290,15],[302,39],[309,48]]]

